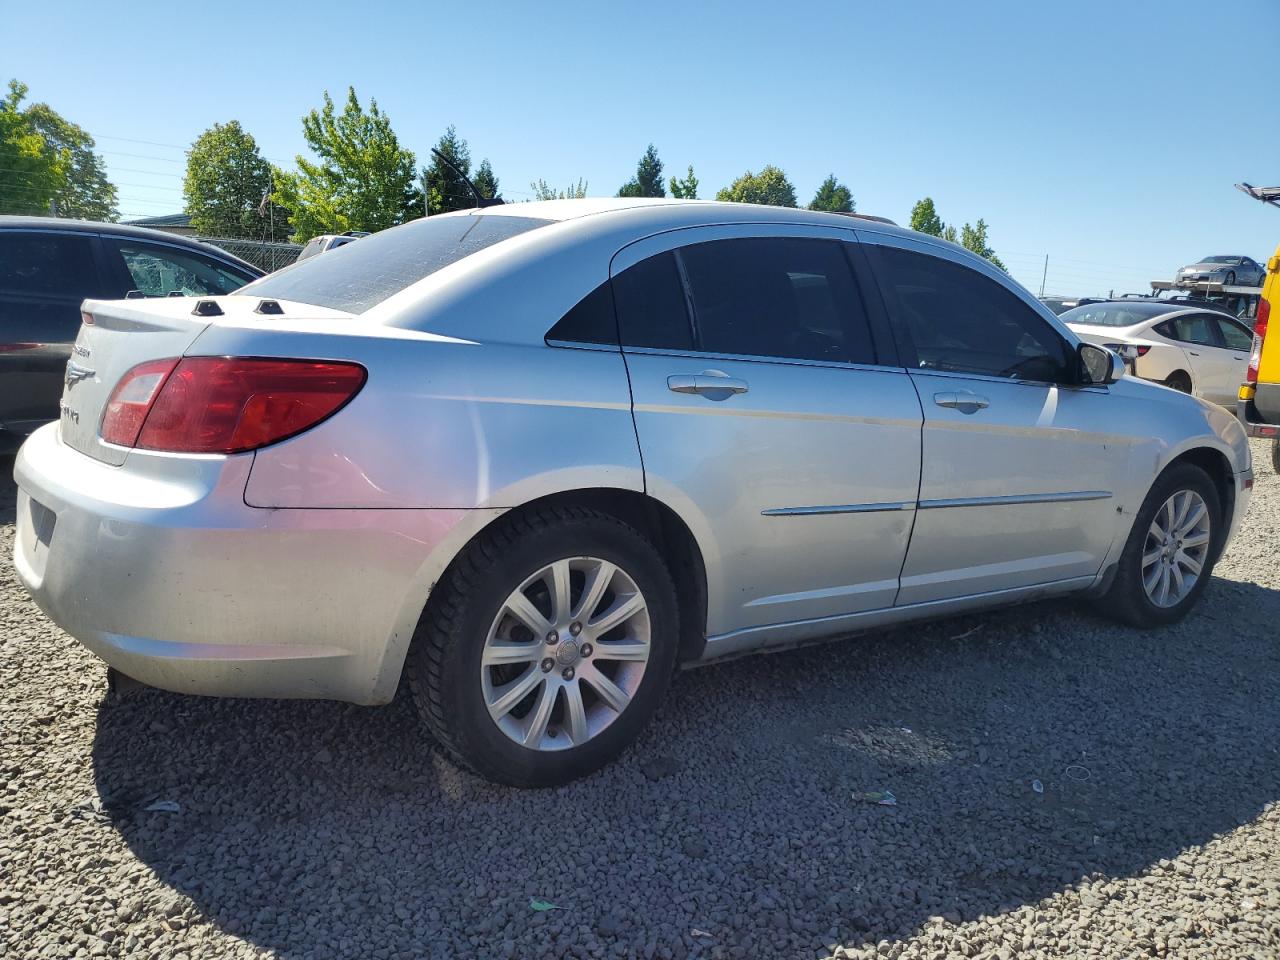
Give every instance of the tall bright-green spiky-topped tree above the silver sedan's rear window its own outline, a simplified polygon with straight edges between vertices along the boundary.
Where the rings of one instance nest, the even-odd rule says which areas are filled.
[[[413,154],[401,147],[376,100],[366,111],[348,87],[339,114],[325,91],[324,106],[302,118],[302,136],[317,161],[298,156],[297,172],[276,172],[273,196],[288,211],[296,239],[381,230],[421,214]]]

